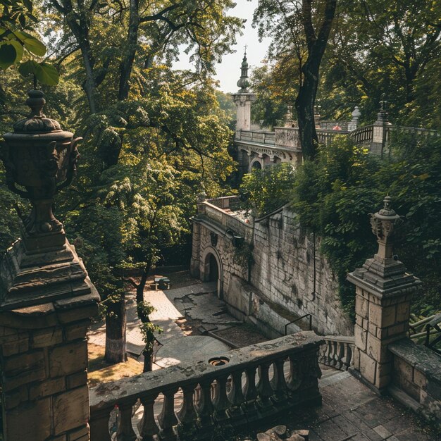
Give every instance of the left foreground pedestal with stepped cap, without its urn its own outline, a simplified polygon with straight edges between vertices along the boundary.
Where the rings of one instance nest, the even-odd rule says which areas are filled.
[[[0,362],[6,441],[89,440],[85,336],[99,295],[75,249],[65,245],[54,251],[58,260],[49,251],[25,254],[20,241],[4,257]]]

